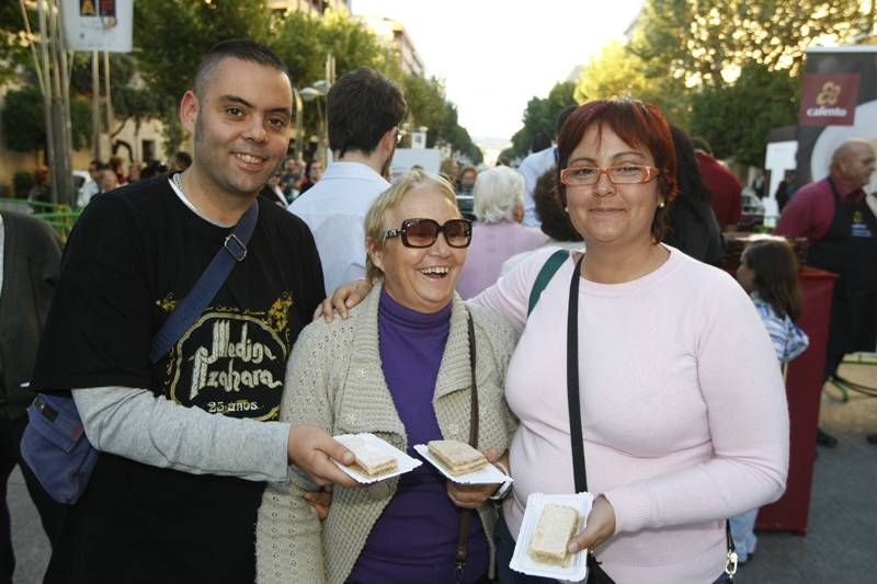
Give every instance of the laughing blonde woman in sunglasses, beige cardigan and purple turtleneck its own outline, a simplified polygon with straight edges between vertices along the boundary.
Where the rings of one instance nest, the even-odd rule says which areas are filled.
[[[515,334],[454,293],[471,224],[453,187],[420,171],[402,176],[375,201],[365,232],[374,287],[350,320],[301,332],[281,419],[333,435],[371,432],[417,457],[415,444],[469,442],[475,374],[476,446],[508,468],[515,422],[502,388]],[[501,488],[462,486],[424,463],[365,488],[335,486],[320,524],[303,500],[314,485],[296,472],[265,492],[259,582],[488,582],[497,519],[488,497]]]

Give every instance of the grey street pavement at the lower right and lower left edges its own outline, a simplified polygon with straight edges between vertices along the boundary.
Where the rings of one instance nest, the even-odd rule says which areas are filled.
[[[877,387],[877,364],[844,364],[841,375]],[[877,582],[877,399],[851,394],[841,402],[823,392],[821,426],[836,436],[834,449],[820,447],[816,460],[806,537],[759,534],[759,547],[738,572],[738,584],[869,584]],[[42,581],[49,548],[36,509],[16,470],[10,480],[12,539],[18,558],[13,584]]]

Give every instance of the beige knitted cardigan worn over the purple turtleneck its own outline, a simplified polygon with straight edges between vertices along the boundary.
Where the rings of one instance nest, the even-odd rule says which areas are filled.
[[[333,435],[371,432],[406,450],[405,425],[394,405],[378,351],[375,286],[349,320],[309,324],[295,343],[286,371],[281,420],[311,424]],[[505,367],[516,336],[500,317],[468,307],[475,324],[476,377],[481,450],[509,447],[516,421],[503,397]],[[433,405],[444,438],[468,442],[469,341],[467,307],[455,295],[451,330],[438,368]],[[424,462],[426,463],[426,462]],[[257,525],[257,581],[260,583],[342,584],[353,570],[366,538],[389,503],[398,478],[361,489],[335,488],[329,517],[322,524],[301,499],[314,484],[299,472],[291,483],[265,490]],[[478,509],[491,550],[491,505]],[[405,534],[399,535],[405,541]],[[492,575],[492,568],[491,568]]]

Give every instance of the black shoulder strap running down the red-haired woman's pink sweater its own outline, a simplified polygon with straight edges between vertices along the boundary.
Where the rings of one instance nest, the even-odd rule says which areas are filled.
[[[567,311],[567,402],[569,404],[569,434],[572,443],[572,476],[576,492],[588,491],[588,474],[584,470],[584,437],[582,434],[581,403],[579,401],[579,283],[584,256],[576,263],[569,285],[569,308]],[[733,581],[737,572],[737,552],[731,538],[729,522],[725,522],[725,536],[728,540],[728,561],[725,573]],[[588,550],[588,584],[613,584],[614,581],[601,568],[593,550]]]

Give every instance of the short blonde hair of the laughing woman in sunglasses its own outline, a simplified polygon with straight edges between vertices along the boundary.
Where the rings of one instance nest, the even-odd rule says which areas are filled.
[[[421,170],[412,170],[402,174],[389,188],[378,195],[368,208],[368,213],[365,214],[365,278],[369,284],[374,284],[375,279],[383,277],[384,273],[372,262],[372,254],[368,252],[384,249],[384,234],[388,229],[399,227],[390,225],[394,211],[408,193],[418,190],[435,191],[454,205],[455,209],[458,209],[454,187],[442,176]]]

